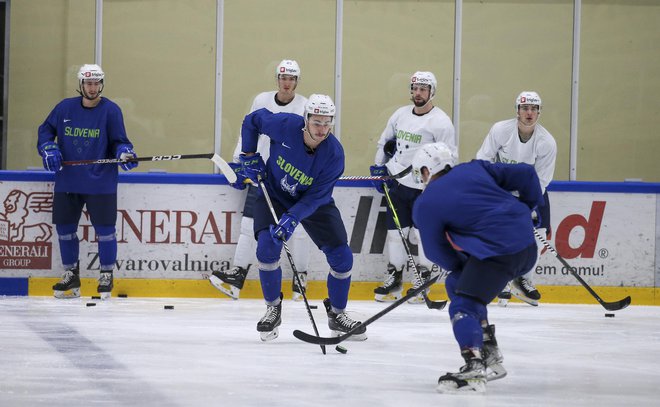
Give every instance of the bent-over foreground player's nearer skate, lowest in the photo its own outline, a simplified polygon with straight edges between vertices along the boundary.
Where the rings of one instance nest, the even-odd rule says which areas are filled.
[[[478,350],[461,352],[465,365],[457,373],[440,376],[436,390],[447,394],[483,394],[486,392],[486,366]]]

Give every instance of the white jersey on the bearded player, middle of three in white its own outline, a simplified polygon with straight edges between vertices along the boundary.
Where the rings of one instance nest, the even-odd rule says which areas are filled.
[[[454,125],[445,112],[434,106],[431,111],[420,116],[413,113],[413,108],[413,105],[408,105],[397,109],[387,121],[387,126],[378,140],[374,162],[376,165],[385,164],[390,174],[398,174],[408,168],[415,152],[423,144],[442,141],[456,147]],[[396,152],[388,161],[383,147],[394,138]],[[416,183],[412,174],[398,181],[407,187],[422,189],[422,184]]]

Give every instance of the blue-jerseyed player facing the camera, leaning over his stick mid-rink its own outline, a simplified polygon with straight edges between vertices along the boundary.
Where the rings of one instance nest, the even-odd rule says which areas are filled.
[[[299,224],[325,254],[330,265],[328,298],[323,301],[328,326],[342,334],[360,322],[346,312],[351,284],[353,254],[332,191],[344,172],[344,150],[330,132],[335,105],[326,95],[311,95],[305,116],[257,110],[245,117],[241,129],[243,175],[263,182],[277,213],[275,222],[263,192],[254,202],[254,235],[257,240],[259,280],[266,301],[266,314],[257,323],[261,340],[277,338],[282,323],[282,242]],[[255,153],[259,134],[270,138],[266,163]],[[240,181],[240,180],[239,180]],[[366,327],[354,335],[366,339]]]

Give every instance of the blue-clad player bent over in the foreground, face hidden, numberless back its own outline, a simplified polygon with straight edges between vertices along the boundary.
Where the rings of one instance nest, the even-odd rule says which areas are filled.
[[[413,219],[429,259],[451,270],[449,316],[465,360],[458,372],[438,379],[436,390],[483,393],[488,380],[506,375],[487,305],[536,261],[531,212],[544,201],[531,165],[456,162],[455,149],[444,143],[415,154],[413,172],[426,188]]]

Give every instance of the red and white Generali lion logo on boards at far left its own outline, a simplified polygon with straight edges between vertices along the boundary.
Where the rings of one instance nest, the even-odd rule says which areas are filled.
[[[0,212],[0,269],[50,269],[53,227],[40,212],[52,212],[51,192],[11,190]]]

